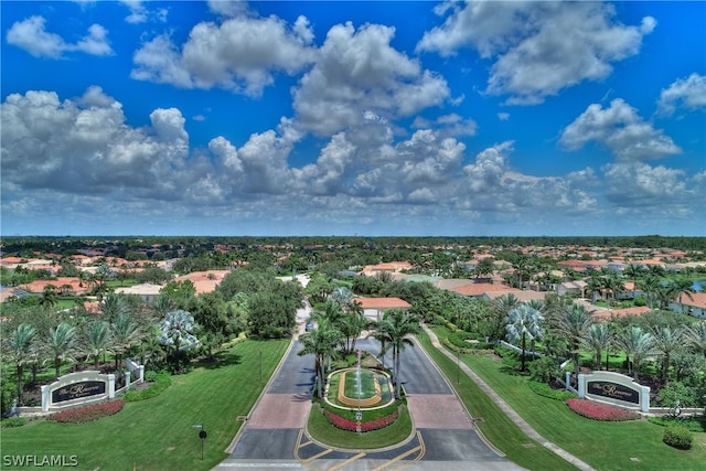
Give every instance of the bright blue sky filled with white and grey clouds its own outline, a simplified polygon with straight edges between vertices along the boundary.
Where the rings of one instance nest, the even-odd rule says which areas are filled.
[[[6,236],[706,236],[706,2],[0,9]]]

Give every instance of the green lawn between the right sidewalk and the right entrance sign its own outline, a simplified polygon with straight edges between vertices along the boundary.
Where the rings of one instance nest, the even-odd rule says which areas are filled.
[[[461,361],[543,437],[598,470],[706,469],[706,433],[695,433],[692,450],[680,451],[662,443],[664,428],[646,420],[591,420],[574,414],[563,402],[532,393],[527,376],[507,372],[493,356],[461,355]],[[523,461],[513,461],[525,465]]]

